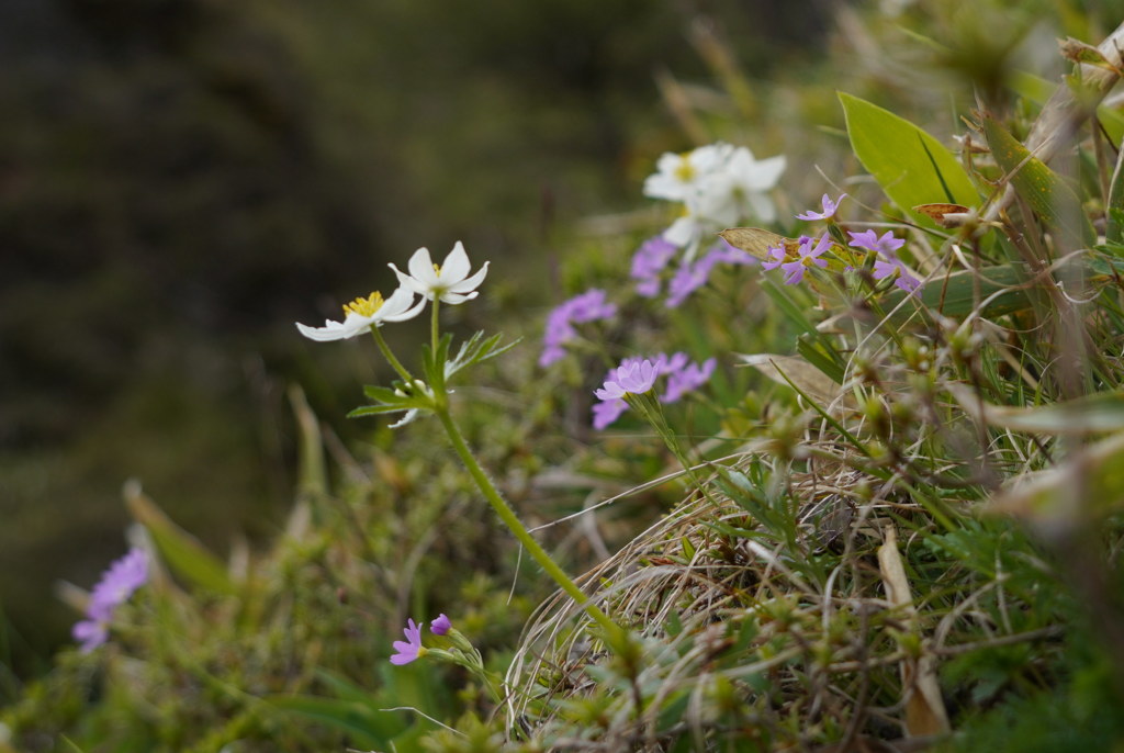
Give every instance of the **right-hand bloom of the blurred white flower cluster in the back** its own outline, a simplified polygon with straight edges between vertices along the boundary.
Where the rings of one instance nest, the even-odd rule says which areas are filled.
[[[714,201],[707,216],[719,225],[731,225],[741,217],[754,217],[762,223],[777,219],[777,208],[767,191],[777,185],[785,172],[785,155],[755,160],[744,146],[734,149],[724,167],[707,178],[701,188]]]

